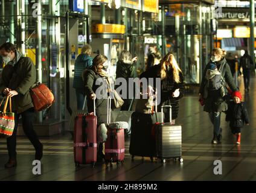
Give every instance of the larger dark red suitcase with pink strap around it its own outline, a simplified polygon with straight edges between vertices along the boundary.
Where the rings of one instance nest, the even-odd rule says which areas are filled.
[[[97,162],[97,116],[94,113],[78,114],[74,125],[75,166]]]

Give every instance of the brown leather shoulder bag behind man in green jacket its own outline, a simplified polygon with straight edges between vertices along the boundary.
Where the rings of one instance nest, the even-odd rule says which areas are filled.
[[[54,95],[45,84],[37,83],[36,86],[31,87],[30,95],[34,109],[37,111],[47,109],[54,103]]]

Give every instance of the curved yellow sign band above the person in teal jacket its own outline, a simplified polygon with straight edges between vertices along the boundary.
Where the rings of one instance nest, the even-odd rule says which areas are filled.
[[[120,24],[96,24],[92,26],[92,34],[124,34],[126,26]]]

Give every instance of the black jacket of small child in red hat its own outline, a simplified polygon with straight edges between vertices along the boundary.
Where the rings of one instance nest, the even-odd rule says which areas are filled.
[[[226,121],[230,121],[230,127],[243,127],[244,124],[249,124],[249,116],[245,107],[245,103],[228,104],[228,112],[226,112]]]

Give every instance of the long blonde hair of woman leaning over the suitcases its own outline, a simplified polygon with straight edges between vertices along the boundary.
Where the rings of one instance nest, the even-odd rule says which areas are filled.
[[[171,66],[173,68],[173,80],[176,83],[181,83],[181,80],[179,79],[179,72],[181,72],[181,68],[179,68],[179,65],[174,57],[173,54],[168,53],[164,56],[164,58],[161,60],[161,80],[166,78],[166,65]]]

